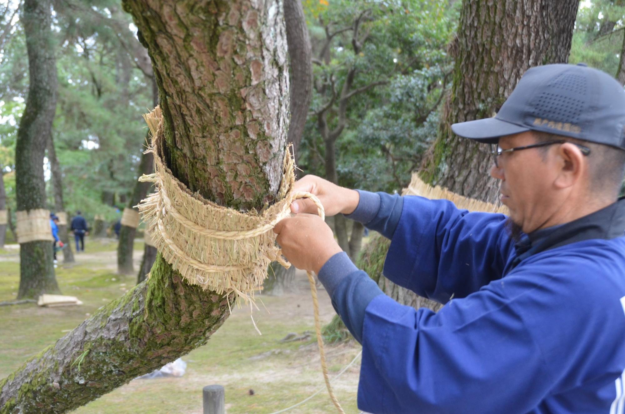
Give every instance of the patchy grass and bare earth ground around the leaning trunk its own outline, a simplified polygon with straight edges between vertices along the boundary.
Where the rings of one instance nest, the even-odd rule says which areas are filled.
[[[78,296],[82,306],[39,308],[36,305],[0,306],[0,378],[18,368],[29,356],[54,343],[104,303],[134,286],[136,276],[116,275],[114,241],[86,243],[86,253],[77,263],[59,265],[56,276],[65,295]],[[134,246],[135,267],[143,255],[143,243]],[[16,248],[0,251],[0,301],[14,300],[19,286],[19,254]],[[233,310],[232,316],[211,336],[207,345],[183,357],[187,370],[180,378],[133,380],[73,411],[74,414],[202,413],[202,387],[220,384],[226,388],[228,414],[273,413],[291,406],[324,388],[314,335],[309,340],[281,342],[288,333],[314,331],[312,300],[304,274],[297,293],[280,297],[261,296],[265,310],[254,311],[262,332],[257,335],[249,309]],[[298,286],[299,287],[299,286]],[[334,310],[324,291],[319,294],[321,317],[331,320]],[[331,376],[336,375],[360,351],[347,343],[326,346]],[[340,378],[334,391],[346,413],[359,413],[356,387],[359,358]],[[251,395],[253,390],[253,395]],[[288,413],[336,412],[322,390],[304,405]]]

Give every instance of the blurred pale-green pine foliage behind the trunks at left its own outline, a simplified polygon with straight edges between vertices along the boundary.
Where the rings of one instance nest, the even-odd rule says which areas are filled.
[[[55,2],[54,12],[59,86],[53,137],[65,208],[83,211],[88,220],[96,214],[114,220],[119,218],[116,206],[125,206],[140,174],[146,139],[141,114],[153,105],[151,79],[136,67],[124,42],[134,36],[132,20],[118,1],[97,6],[87,0]],[[7,41],[0,44],[0,168],[5,173],[14,170],[15,135],[28,88],[19,19],[8,30]],[[44,169],[54,210],[49,166]],[[5,175],[9,207],[14,205],[11,180]]]

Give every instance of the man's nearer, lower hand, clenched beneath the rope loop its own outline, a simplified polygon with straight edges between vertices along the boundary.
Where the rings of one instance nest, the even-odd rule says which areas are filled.
[[[318,274],[329,258],[342,251],[334,241],[332,230],[317,215],[285,218],[273,230],[282,254],[298,269]]]

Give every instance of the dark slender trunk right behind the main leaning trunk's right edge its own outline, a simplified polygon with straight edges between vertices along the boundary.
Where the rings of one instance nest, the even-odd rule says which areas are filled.
[[[301,0],[284,0],[286,41],[289,46],[290,112],[288,141],[293,144],[295,162],[312,98],[312,49]]]

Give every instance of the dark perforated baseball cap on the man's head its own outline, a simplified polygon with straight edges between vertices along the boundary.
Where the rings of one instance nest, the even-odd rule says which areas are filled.
[[[528,69],[493,118],[452,124],[459,136],[496,144],[501,136],[542,131],[625,149],[625,91],[585,64]]]

